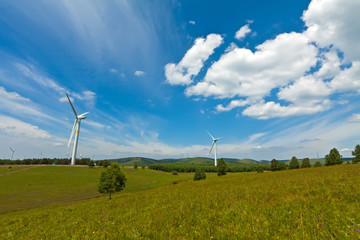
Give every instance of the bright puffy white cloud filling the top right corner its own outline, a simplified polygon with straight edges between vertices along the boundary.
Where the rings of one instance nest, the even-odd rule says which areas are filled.
[[[347,61],[359,60],[359,9],[357,0],[312,0],[302,17],[308,27],[305,34],[320,47],[334,45]]]

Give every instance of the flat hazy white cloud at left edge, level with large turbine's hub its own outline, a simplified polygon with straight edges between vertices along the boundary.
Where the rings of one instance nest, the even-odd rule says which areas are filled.
[[[0,115],[0,131],[17,137],[50,138],[50,134],[39,127],[4,115]]]

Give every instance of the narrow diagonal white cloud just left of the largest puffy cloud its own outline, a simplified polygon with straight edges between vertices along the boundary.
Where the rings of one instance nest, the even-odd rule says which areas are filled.
[[[209,34],[206,39],[197,38],[194,45],[186,52],[178,64],[166,64],[165,76],[167,82],[171,85],[192,83],[192,77],[197,76],[204,66],[204,62],[222,42],[223,38],[219,34]]]

